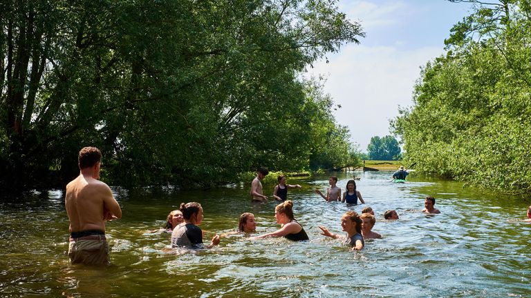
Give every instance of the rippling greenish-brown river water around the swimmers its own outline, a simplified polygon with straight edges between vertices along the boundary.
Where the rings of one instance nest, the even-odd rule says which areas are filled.
[[[352,173],[342,173],[344,190]],[[454,181],[411,178],[389,183],[389,172],[356,173],[365,204],[326,203],[313,191],[327,177],[288,179],[295,217],[310,241],[250,240],[227,235],[211,250],[169,249],[160,228],[181,202],[205,210],[205,243],[229,232],[242,212],[257,217],[257,233],[278,228],[276,203],[251,203],[250,183],[212,190],[113,188],[123,218],[107,224],[111,266],[69,264],[68,217],[62,190],[30,192],[0,203],[0,297],[530,297],[531,224],[521,221],[529,201]],[[272,184],[264,184],[265,194]],[[440,215],[424,215],[424,197],[436,197]],[[375,210],[361,252],[320,235],[341,232],[346,210]],[[400,219],[386,221],[387,209]]]

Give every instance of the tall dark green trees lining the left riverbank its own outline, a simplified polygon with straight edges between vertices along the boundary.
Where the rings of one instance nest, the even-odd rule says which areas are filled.
[[[335,1],[0,3],[0,188],[64,186],[77,152],[106,181],[215,185],[355,163],[301,72],[364,35]]]

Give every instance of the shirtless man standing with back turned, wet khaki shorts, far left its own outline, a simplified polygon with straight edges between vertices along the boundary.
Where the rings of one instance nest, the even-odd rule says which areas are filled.
[[[85,147],[77,157],[80,175],[66,186],[64,203],[70,220],[68,257],[72,264],[109,264],[105,221],[122,217],[111,188],[100,179],[102,153]]]

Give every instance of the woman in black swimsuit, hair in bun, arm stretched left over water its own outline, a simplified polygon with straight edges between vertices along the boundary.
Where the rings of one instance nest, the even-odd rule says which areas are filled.
[[[291,241],[309,240],[306,231],[299,224],[293,216],[293,202],[288,200],[279,203],[274,208],[274,219],[277,219],[277,224],[281,224],[281,228],[275,232],[270,232],[264,235],[252,237],[251,239],[261,239],[265,237],[284,237]]]

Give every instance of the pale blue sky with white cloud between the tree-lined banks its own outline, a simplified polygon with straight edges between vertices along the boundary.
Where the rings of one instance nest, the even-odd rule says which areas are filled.
[[[471,12],[469,3],[445,0],[340,0],[339,9],[362,24],[359,45],[308,68],[326,77],[324,91],[342,108],[339,124],[348,126],[354,143],[366,151],[373,136],[389,135],[389,119],[399,106],[411,106],[420,66],[444,53],[451,27]]]

